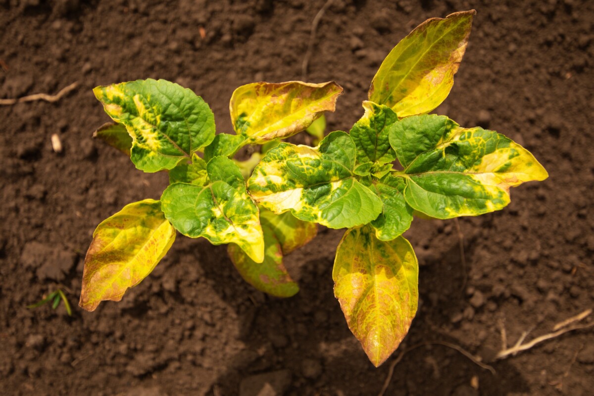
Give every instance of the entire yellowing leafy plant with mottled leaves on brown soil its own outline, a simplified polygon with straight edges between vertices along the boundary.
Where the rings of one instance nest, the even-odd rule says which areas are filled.
[[[115,121],[97,137],[144,172],[168,171],[159,201],[127,205],[94,232],[80,306],[120,300],[171,247],[176,230],[228,252],[242,277],[274,296],[297,284],[283,255],[309,242],[315,223],[346,229],[333,268],[334,294],[375,366],[409,330],[418,303],[418,262],[402,236],[414,216],[454,218],[500,210],[510,187],[544,180],[525,148],[479,127],[429,115],[451,90],[474,10],[425,21],[381,64],[350,132],[317,147],[282,142],[334,111],[334,82],[253,83],[230,100],[235,134],[215,135],[214,116],[192,91],[168,81],[97,87]],[[318,121],[319,123],[319,121]],[[247,161],[239,148],[262,145]],[[246,180],[247,179],[247,182]]]

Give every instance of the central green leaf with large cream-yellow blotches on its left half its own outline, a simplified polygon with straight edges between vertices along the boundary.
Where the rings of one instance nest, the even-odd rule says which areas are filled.
[[[369,223],[381,201],[353,175],[356,147],[345,132],[329,134],[317,148],[281,143],[268,151],[248,179],[252,198],[280,214],[330,228]]]

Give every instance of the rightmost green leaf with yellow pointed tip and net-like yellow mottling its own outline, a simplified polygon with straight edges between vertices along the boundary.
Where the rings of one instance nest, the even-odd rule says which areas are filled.
[[[504,135],[460,128],[445,116],[405,118],[390,143],[405,167],[407,204],[435,218],[500,210],[510,202],[510,187],[548,177],[529,151]]]

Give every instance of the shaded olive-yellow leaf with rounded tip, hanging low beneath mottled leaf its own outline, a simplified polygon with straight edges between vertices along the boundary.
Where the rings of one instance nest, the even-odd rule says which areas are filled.
[[[283,265],[283,251],[279,239],[270,227],[263,224],[264,261],[257,263],[232,243],[227,248],[229,257],[245,281],[261,292],[276,297],[291,297],[299,286]]]

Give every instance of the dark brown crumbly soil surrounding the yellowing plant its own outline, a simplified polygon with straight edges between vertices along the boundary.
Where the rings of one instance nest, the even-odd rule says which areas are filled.
[[[399,358],[386,395],[592,394],[592,328],[494,356],[502,325],[512,345],[594,305],[594,3],[488,3],[334,0],[317,29],[306,78],[345,88],[327,120],[328,130],[348,131],[402,37],[427,18],[476,8],[456,84],[436,112],[507,135],[550,174],[513,189],[504,210],[460,218],[465,260],[456,221],[413,222],[406,237],[419,258],[419,311],[399,350],[374,368],[333,296],[343,230],[320,227],[286,258],[301,285],[289,299],[242,281],[225,246],[178,236],[121,302],[92,313],[77,306],[94,228],[129,202],[159,199],[168,183],[93,140],[108,117],[91,89],[175,81],[230,132],[236,87],[302,79],[324,1],[0,0],[0,97],[78,81],[58,102],[0,107],[0,393],[377,395]],[[57,287],[71,317],[62,304],[27,309]]]

